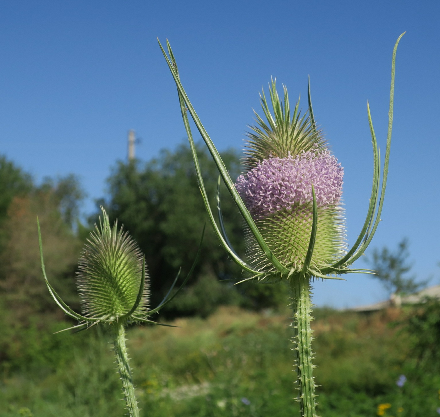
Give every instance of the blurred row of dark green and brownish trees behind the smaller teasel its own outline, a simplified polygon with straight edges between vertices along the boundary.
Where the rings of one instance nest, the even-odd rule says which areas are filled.
[[[201,147],[198,150],[206,187],[214,202],[217,170],[207,152]],[[227,150],[222,157],[231,174],[238,175],[238,152]],[[179,268],[180,281],[191,268],[207,222],[189,148],[179,145],[174,151],[163,150],[158,158],[147,163],[118,161],[107,182],[108,194],[97,206],[106,207],[110,220],[118,218],[119,225],[123,224],[139,243],[150,273],[152,305],[157,305]],[[226,189],[222,191],[227,232],[238,253],[243,254],[242,223]],[[10,329],[11,334],[32,323],[43,326],[48,321],[63,319],[41,275],[37,215],[49,279],[62,298],[80,310],[75,288],[77,259],[98,220],[95,214],[88,225],[79,221],[84,196],[73,174],[46,178],[36,185],[29,174],[0,157],[0,309],[3,327]],[[253,309],[276,307],[286,299],[280,286],[234,286],[219,282],[240,277],[239,268],[224,254],[207,224],[194,274],[164,312],[165,316],[206,316],[216,306],[228,304]],[[3,347],[2,355],[7,355],[9,348]]]

